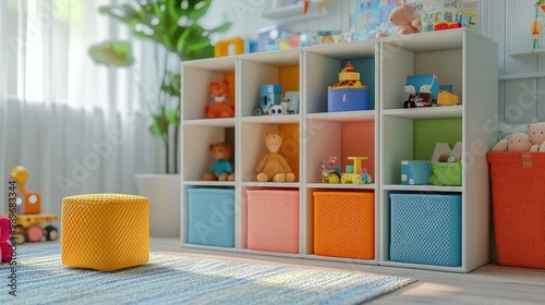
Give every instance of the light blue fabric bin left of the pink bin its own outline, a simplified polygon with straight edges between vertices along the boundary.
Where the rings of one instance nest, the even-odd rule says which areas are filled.
[[[234,190],[187,190],[187,242],[234,247]]]

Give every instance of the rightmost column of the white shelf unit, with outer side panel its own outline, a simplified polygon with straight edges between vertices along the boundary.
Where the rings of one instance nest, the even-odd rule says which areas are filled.
[[[486,152],[496,142],[487,129],[497,112],[497,44],[465,29],[389,37],[380,44],[380,259],[379,265],[469,272],[489,261],[491,198]],[[461,106],[402,109],[402,75],[436,73]],[[401,77],[400,77],[401,76]],[[447,130],[447,129],[453,130]],[[443,130],[445,132],[443,132]],[[429,131],[427,133],[427,131]],[[401,160],[429,159],[435,143],[462,143],[462,186],[401,185]],[[425,148],[423,148],[425,147]],[[425,150],[428,156],[422,151]],[[461,265],[390,260],[392,192],[461,195]]]

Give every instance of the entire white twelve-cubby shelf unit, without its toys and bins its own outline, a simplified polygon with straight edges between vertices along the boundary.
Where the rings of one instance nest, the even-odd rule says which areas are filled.
[[[338,82],[338,73],[351,61],[371,93],[371,110],[327,112],[327,86]],[[433,71],[432,71],[433,70]],[[402,109],[407,74],[435,72],[440,84],[452,84],[462,105],[427,109]],[[208,83],[234,73],[235,118],[204,119]],[[289,75],[289,76],[287,76]],[[286,81],[287,78],[290,78]],[[283,83],[283,90],[299,90],[300,113],[255,117],[259,86]],[[422,33],[364,41],[241,54],[182,63],[182,245],[358,264],[400,266],[468,272],[489,260],[489,197],[486,151],[496,134],[486,129],[497,111],[497,46],[465,29]],[[400,161],[414,158],[414,122],[453,120],[463,144],[467,162],[462,186],[400,185]],[[366,133],[362,133],[366,130]],[[229,131],[226,133],[226,131]],[[232,132],[232,135],[230,134]],[[295,182],[261,183],[255,166],[267,152],[264,132],[288,134],[284,156]],[[233,142],[234,182],[203,182],[208,170],[208,146]],[[420,143],[416,141],[416,143]],[[360,144],[360,146],[355,145]],[[361,146],[365,147],[364,149]],[[327,184],[322,182],[318,162],[338,157],[368,156],[364,162],[372,184]],[[234,188],[235,244],[233,248],[193,245],[185,232],[190,187]],[[284,254],[249,249],[247,190],[299,191],[299,253]],[[374,258],[353,259],[319,256],[313,247],[313,192],[374,192]],[[441,267],[401,264],[389,259],[389,208],[391,192],[448,192],[462,195],[462,265]]]

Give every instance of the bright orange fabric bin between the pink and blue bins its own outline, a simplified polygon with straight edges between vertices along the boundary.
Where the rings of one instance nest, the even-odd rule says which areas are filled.
[[[314,192],[314,254],[375,258],[375,194]]]

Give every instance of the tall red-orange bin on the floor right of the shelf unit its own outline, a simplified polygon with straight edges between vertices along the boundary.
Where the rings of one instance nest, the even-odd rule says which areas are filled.
[[[545,269],[545,152],[489,152],[498,264]]]

